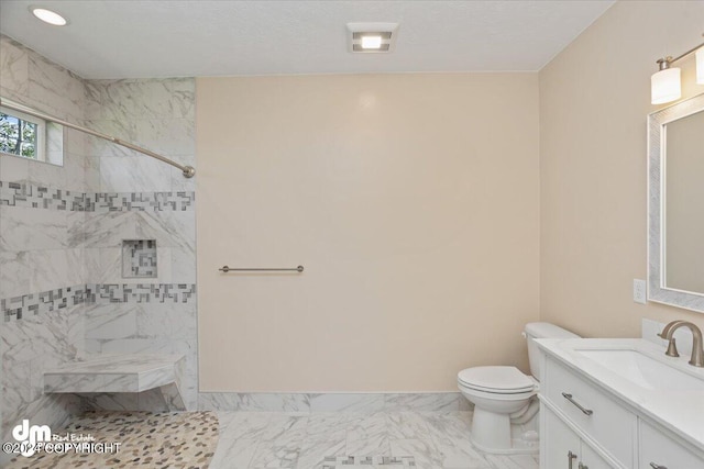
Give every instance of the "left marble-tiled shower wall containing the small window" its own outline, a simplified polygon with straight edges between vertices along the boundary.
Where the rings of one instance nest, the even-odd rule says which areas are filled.
[[[0,94],[85,122],[84,81],[4,36]],[[59,425],[78,407],[76,397],[43,394],[42,373],[82,354],[82,293],[76,297],[73,287],[87,281],[84,212],[75,210],[74,194],[82,198],[99,181],[86,144],[82,135],[66,132],[64,166],[0,156],[0,301],[3,310],[18,309],[16,301],[8,304],[12,299],[28,301],[23,320],[0,319],[3,435],[22,417]]]

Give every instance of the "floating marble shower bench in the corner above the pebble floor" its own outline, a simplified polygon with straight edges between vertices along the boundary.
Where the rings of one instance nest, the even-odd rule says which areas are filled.
[[[184,355],[97,355],[44,372],[45,393],[143,392],[160,388],[164,398],[183,407]],[[166,389],[175,384],[176,394]],[[177,399],[175,399],[177,398]]]

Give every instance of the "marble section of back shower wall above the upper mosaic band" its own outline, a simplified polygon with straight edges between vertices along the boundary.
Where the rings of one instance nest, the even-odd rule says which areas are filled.
[[[195,166],[195,89],[191,78],[91,80],[90,125]],[[100,159],[101,192],[195,191],[196,180],[172,166],[97,138],[91,148]]]

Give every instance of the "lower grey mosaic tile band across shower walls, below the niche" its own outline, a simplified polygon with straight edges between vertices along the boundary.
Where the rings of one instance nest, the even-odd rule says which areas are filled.
[[[0,300],[4,322],[36,316],[82,303],[190,303],[195,283],[86,283]]]

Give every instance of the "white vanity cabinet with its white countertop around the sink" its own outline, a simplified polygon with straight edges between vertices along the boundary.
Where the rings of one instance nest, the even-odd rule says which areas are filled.
[[[547,351],[539,394],[540,468],[704,469],[704,397],[635,387],[628,379],[636,375],[624,379],[580,354],[582,344],[595,342],[576,340],[588,339],[569,340],[571,348],[540,345]]]

